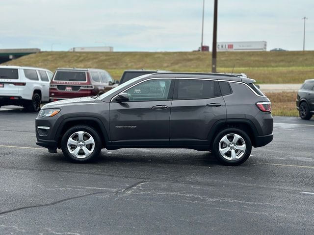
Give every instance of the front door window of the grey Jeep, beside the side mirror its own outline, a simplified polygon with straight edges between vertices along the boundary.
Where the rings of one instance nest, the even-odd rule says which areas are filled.
[[[130,101],[166,100],[170,90],[171,79],[154,79],[142,82],[126,93]]]

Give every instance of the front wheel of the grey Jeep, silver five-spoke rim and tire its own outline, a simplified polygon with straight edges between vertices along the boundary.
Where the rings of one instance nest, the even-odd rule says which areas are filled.
[[[70,160],[85,163],[99,155],[102,150],[101,137],[90,126],[74,126],[63,135],[61,149]]]

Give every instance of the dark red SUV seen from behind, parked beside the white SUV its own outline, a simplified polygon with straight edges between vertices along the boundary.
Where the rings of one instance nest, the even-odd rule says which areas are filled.
[[[116,86],[105,70],[57,69],[50,82],[50,101],[103,94]]]

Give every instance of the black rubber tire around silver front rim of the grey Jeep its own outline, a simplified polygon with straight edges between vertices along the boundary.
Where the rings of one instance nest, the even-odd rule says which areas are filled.
[[[78,157],[73,156],[70,153],[68,146],[67,146],[68,140],[71,136],[72,136],[72,138],[76,138],[76,140],[78,140],[78,137],[73,136],[77,132],[86,133],[86,135],[84,135],[83,138],[87,138],[88,135],[90,135],[92,137],[92,139],[94,141],[94,148],[91,147],[92,145],[86,145],[86,146],[83,145],[83,146],[79,146],[80,149],[78,150],[78,155],[79,154],[82,155],[83,153],[84,153],[84,155],[86,155],[84,149],[82,149],[84,147],[88,148],[88,150],[90,150],[90,151],[92,150],[92,153],[89,156],[84,157],[84,155],[83,156],[79,155],[79,158],[78,158]],[[87,141],[87,140],[85,140],[85,141]],[[82,143],[80,142],[78,144],[82,144]],[[78,148],[78,146],[70,145],[70,148],[72,150],[75,150],[76,148]],[[63,155],[65,157],[67,157],[69,160],[71,160],[72,162],[87,163],[87,162],[90,162],[95,157],[99,156],[99,153],[102,150],[102,140],[101,140],[99,133],[94,128],[87,126],[87,125],[77,125],[77,126],[71,127],[69,130],[67,130],[64,133],[63,137],[61,138],[61,150],[63,152]],[[80,158],[80,157],[82,157],[82,158]]]

